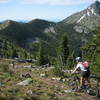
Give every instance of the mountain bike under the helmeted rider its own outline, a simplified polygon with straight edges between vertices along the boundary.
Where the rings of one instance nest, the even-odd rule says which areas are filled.
[[[100,90],[99,90],[100,86],[98,82],[93,87],[90,87],[88,84],[85,84],[82,88],[79,88],[80,84],[79,72],[76,72],[75,74],[71,74],[71,76],[67,81],[67,85],[71,88],[73,92],[79,91],[89,94],[91,96],[100,97]]]

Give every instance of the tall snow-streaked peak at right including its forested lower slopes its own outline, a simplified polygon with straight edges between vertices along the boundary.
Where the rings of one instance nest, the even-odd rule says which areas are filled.
[[[58,37],[66,34],[71,50],[79,52],[80,47],[91,41],[93,30],[100,27],[100,2],[96,1],[88,8],[75,13],[55,26]]]

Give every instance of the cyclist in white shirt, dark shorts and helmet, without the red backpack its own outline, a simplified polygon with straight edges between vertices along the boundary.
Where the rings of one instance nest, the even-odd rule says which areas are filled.
[[[78,69],[81,70],[82,75],[80,78],[80,88],[83,88],[85,85],[85,81],[87,81],[88,84],[90,85],[90,80],[89,80],[90,70],[89,70],[89,68],[86,69],[83,66],[81,57],[77,57],[76,62],[77,62],[77,65],[76,65],[75,69],[72,71],[72,74],[75,73]]]

